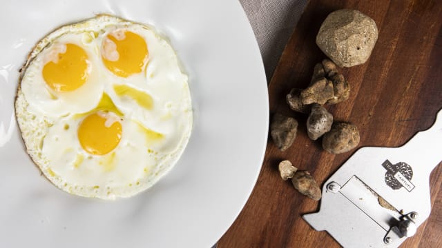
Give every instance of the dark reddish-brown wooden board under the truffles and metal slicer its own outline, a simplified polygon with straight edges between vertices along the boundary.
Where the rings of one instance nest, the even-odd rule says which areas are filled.
[[[368,14],[379,30],[369,61],[343,70],[352,86],[350,99],[327,107],[335,120],[358,126],[359,147],[401,146],[430,127],[442,108],[442,1],[311,0],[269,83],[271,114],[297,118],[298,137],[286,152],[280,152],[269,138],[256,187],[218,247],[339,247],[325,231],[314,231],[302,220],[302,214],[318,210],[318,203],[282,181],[277,166],[289,159],[323,183],[354,152],[324,152],[320,141],[307,137],[302,125],[306,116],[291,112],[285,103],[289,90],[306,87],[314,64],[325,58],[315,37],[327,14],[341,8]],[[439,165],[430,177],[430,218],[401,247],[442,247],[441,184]]]

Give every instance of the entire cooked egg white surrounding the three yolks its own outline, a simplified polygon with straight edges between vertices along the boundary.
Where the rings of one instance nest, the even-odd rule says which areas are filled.
[[[99,54],[106,34],[121,28],[143,37],[149,52],[145,70],[128,78],[108,71]],[[79,89],[53,99],[39,74],[44,65],[41,57],[51,45],[66,42],[86,50],[92,70]],[[152,109],[117,95],[115,85],[149,94]],[[123,114],[122,139],[109,154],[91,155],[79,145],[77,129],[104,93]],[[142,192],[175,165],[191,134],[188,78],[171,45],[149,26],[108,15],[66,25],[42,39],[25,64],[15,107],[32,161],[57,187],[79,196],[115,199]],[[152,140],[146,130],[162,138]]]

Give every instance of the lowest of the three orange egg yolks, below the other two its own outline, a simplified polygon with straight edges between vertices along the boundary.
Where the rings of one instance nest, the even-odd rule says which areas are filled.
[[[117,147],[122,138],[122,124],[113,121],[112,118],[106,118],[106,114],[90,114],[79,125],[78,140],[81,147],[90,154],[108,154]]]

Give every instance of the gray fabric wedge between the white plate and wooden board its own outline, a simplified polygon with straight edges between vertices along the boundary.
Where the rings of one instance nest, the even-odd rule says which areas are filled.
[[[240,0],[240,3],[258,40],[269,81],[307,0]]]

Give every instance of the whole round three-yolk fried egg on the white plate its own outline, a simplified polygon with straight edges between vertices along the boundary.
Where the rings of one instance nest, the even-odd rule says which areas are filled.
[[[15,112],[26,152],[54,185],[115,199],[151,187],[189,141],[188,77],[153,27],[99,15],[35,46]]]

